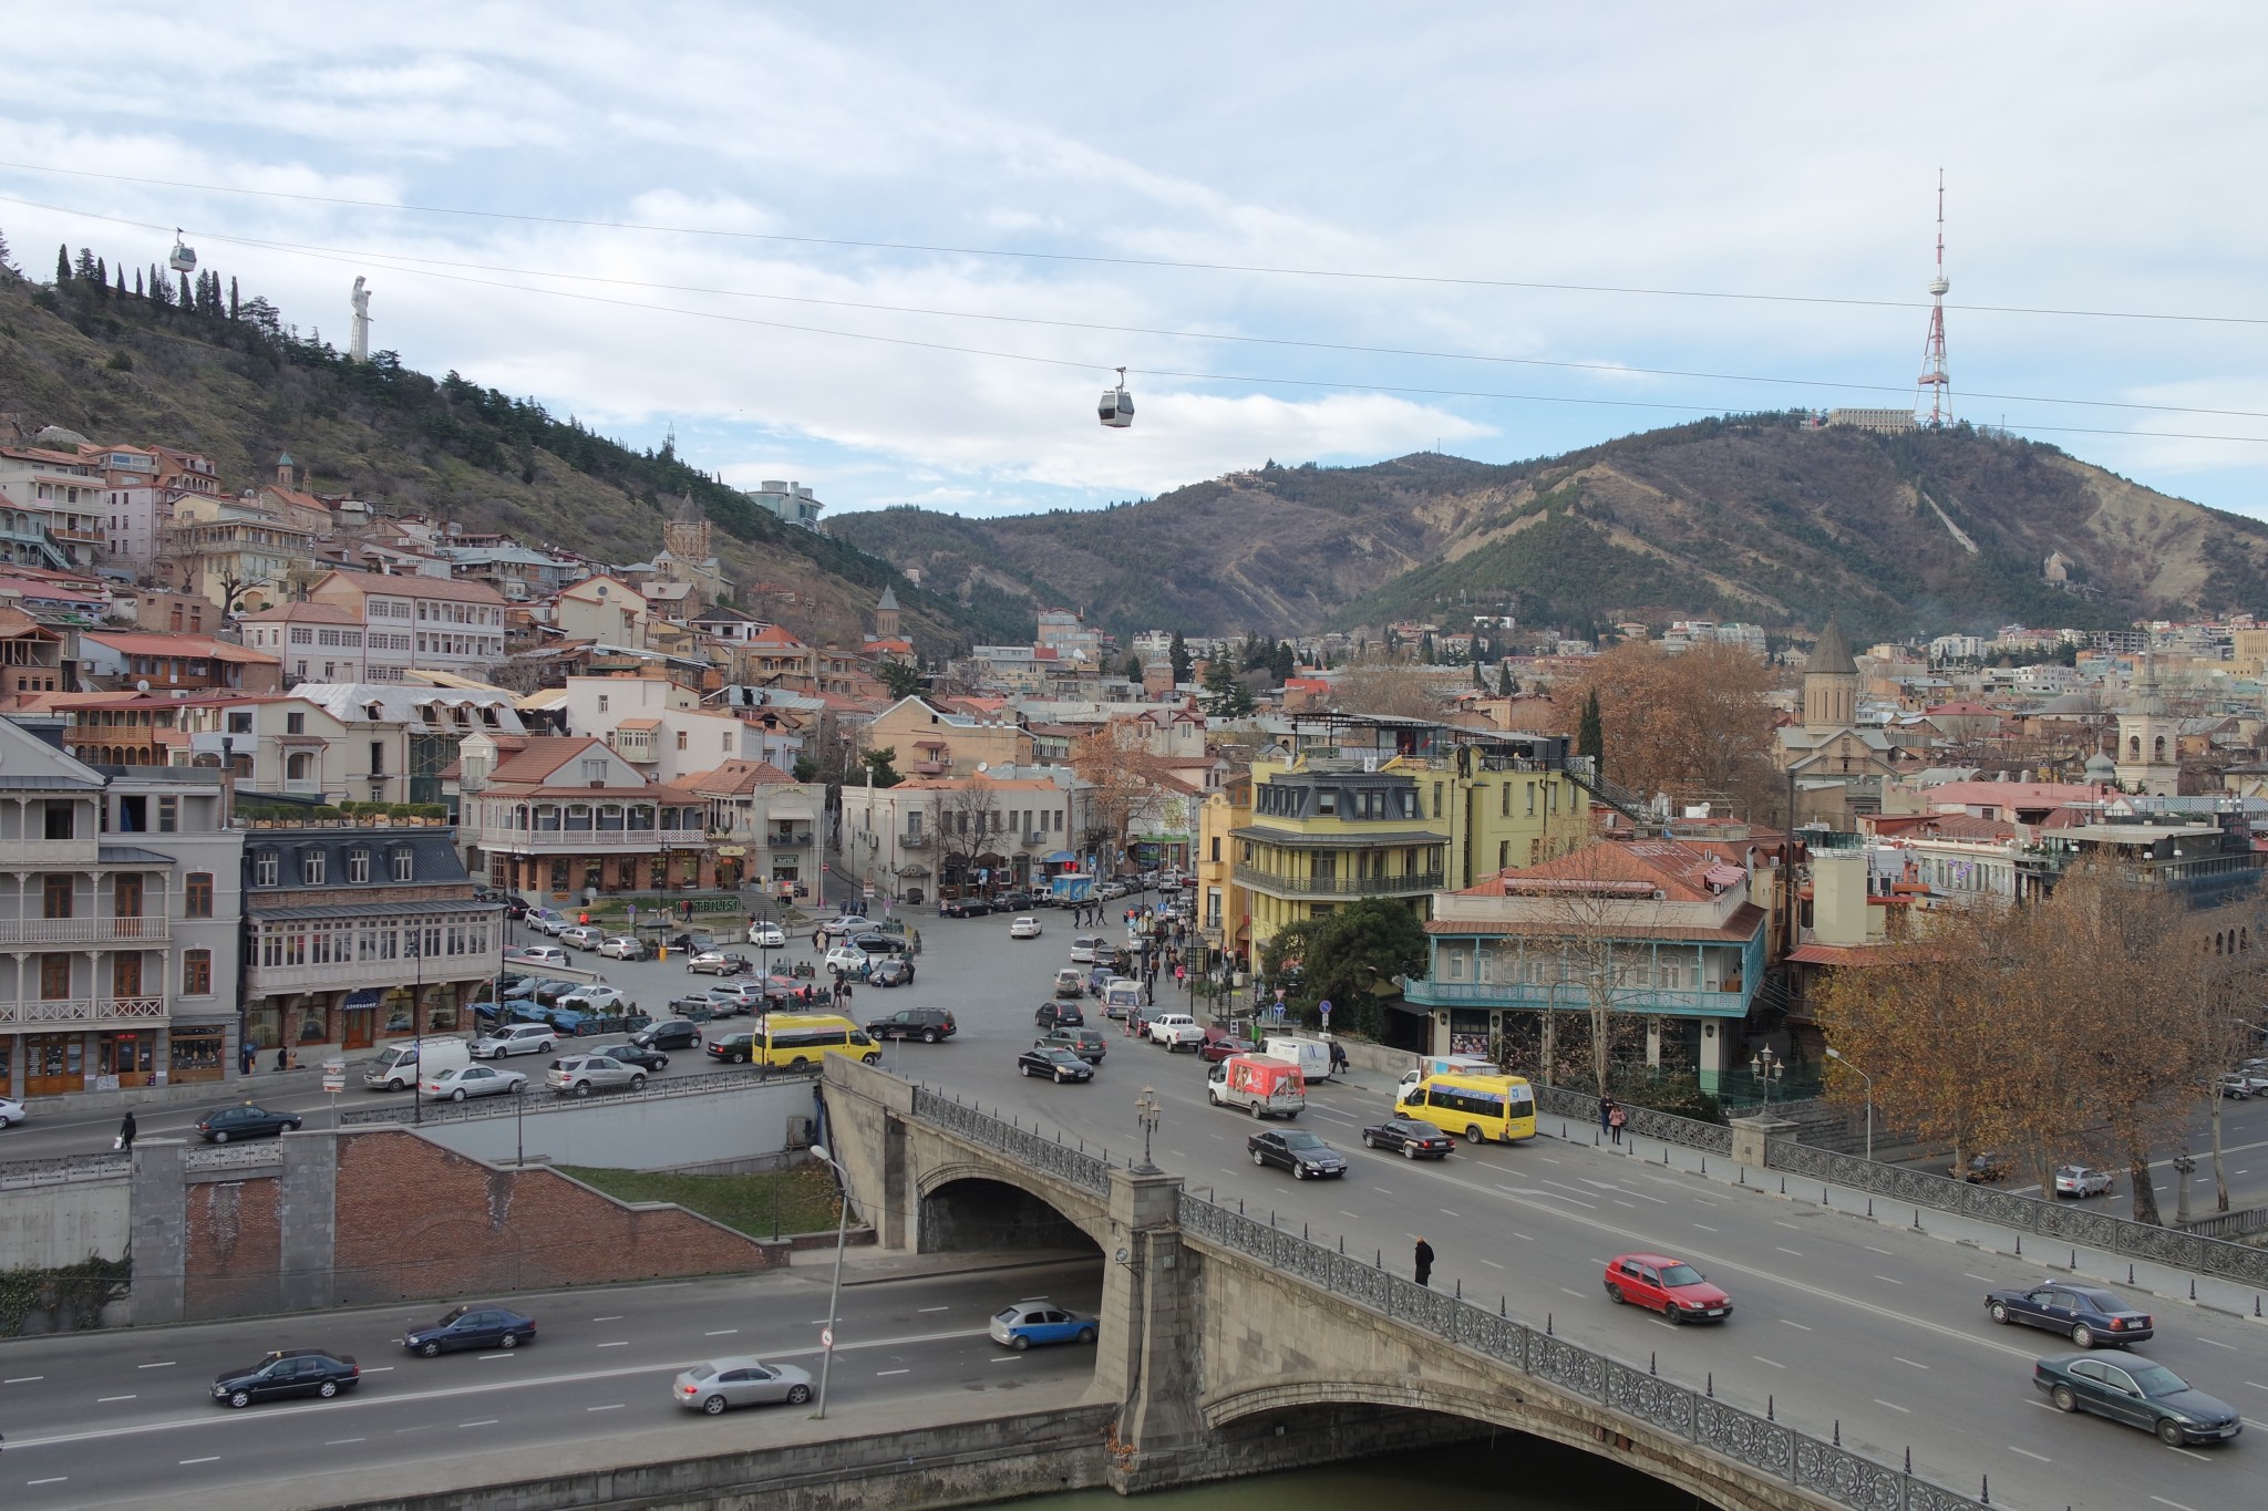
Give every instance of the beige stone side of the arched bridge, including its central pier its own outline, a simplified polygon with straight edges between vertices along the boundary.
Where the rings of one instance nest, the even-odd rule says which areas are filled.
[[[1177,1176],[828,1060],[828,1144],[887,1248],[1093,1248],[1111,1482],[1163,1488],[1488,1429],[1567,1443],[1737,1511],[1982,1511],[1708,1391],[1402,1280]]]

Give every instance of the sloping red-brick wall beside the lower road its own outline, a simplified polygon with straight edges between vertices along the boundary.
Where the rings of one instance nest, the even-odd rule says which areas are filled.
[[[680,1207],[621,1203],[547,1167],[499,1169],[397,1128],[340,1135],[336,1203],[336,1305],[773,1262],[769,1246]]]

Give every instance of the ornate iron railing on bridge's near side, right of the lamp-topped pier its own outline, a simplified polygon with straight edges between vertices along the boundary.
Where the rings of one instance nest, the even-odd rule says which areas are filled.
[[[950,1103],[948,1103],[950,1105]],[[916,1103],[916,1112],[921,1105]],[[968,1112],[968,1108],[959,1108]],[[987,1119],[991,1121],[991,1119]],[[1982,1511],[1914,1475],[1182,1194],[1182,1230],[1855,1511]]]

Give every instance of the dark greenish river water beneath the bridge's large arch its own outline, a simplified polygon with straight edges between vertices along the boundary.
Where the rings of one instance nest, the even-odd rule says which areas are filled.
[[[1442,1500],[1447,1497],[1447,1500]],[[1359,1459],[1329,1468],[1222,1479],[1129,1502],[1111,1491],[1002,1500],[975,1511],[1411,1511],[1424,1504],[1488,1511],[1708,1511],[1708,1502],[1592,1454],[1520,1434],[1495,1448]]]

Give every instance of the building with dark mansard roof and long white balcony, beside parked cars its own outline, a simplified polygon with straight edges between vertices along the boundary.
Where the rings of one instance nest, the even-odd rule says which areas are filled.
[[[286,795],[288,797],[288,795]],[[274,795],[238,788],[277,811]],[[469,1033],[503,904],[474,902],[456,834],[401,820],[245,825],[245,1038],[302,1062],[420,1033]]]

